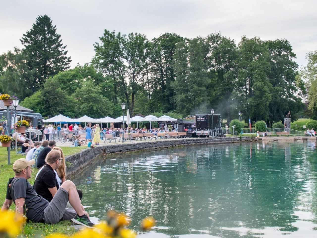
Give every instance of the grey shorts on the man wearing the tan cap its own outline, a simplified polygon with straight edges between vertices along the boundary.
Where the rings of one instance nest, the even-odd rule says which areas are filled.
[[[68,202],[68,192],[64,188],[59,188],[52,201],[44,209],[44,223],[55,224],[63,220],[71,220],[76,215],[74,209],[66,208]]]

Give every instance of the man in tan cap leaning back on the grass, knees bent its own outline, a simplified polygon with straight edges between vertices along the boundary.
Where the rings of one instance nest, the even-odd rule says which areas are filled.
[[[56,160],[56,166],[59,160]],[[82,210],[82,205],[71,181],[65,181],[55,193],[51,202],[36,193],[28,179],[31,177],[31,166],[35,163],[32,159],[25,158],[16,160],[12,169],[15,176],[9,179],[7,194],[2,211],[8,210],[12,202],[16,205],[16,215],[24,214],[30,221],[55,224],[62,220],[71,220],[88,228],[93,228],[94,223],[89,219],[89,214]],[[74,209],[66,208],[67,202]]]

